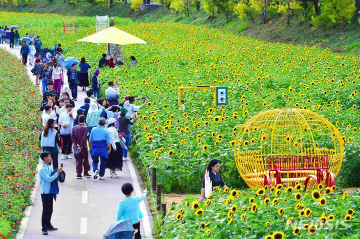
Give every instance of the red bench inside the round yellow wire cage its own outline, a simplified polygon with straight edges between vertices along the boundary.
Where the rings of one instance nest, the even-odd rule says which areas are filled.
[[[267,156],[268,173],[264,176],[264,185],[276,186],[303,181],[305,190],[312,181],[316,185],[325,179],[327,187],[335,185],[334,176],[328,170],[331,155],[286,155]]]

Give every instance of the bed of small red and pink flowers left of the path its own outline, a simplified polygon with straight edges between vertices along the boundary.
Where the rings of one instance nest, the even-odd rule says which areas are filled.
[[[0,48],[0,238],[12,238],[31,204],[41,102],[21,62]]]

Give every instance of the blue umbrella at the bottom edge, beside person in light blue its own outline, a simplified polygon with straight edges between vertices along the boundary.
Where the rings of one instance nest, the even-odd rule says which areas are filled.
[[[107,229],[102,239],[131,239],[134,231],[130,220],[118,221]]]

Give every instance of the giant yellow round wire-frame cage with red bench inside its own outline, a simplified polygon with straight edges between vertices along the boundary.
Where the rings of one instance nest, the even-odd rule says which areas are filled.
[[[344,157],[343,138],[324,117],[303,109],[261,112],[238,125],[234,156],[249,187],[303,182],[334,185]]]

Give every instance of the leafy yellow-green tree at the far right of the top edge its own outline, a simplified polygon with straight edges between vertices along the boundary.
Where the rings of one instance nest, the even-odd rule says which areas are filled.
[[[321,14],[312,17],[312,24],[315,26],[342,24],[342,30],[345,31],[345,23],[350,23],[354,10],[353,0],[322,0]]]

